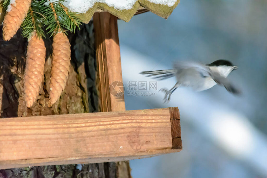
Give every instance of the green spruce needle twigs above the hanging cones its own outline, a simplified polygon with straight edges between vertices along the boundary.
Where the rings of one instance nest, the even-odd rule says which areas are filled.
[[[36,31],[38,37],[45,37],[43,26],[47,33],[52,36],[62,31],[75,32],[75,29],[81,24],[76,12],[71,12],[62,3],[64,0],[49,2],[47,0],[32,0],[31,7],[25,17],[21,27],[22,35],[29,38],[33,31]],[[1,6],[6,11],[10,0],[2,0]]]

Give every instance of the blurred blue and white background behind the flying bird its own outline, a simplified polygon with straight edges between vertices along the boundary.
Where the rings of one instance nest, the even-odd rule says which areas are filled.
[[[267,177],[267,1],[181,0],[168,20],[147,12],[118,21],[127,110],[178,106],[183,151],[130,161],[133,178]],[[195,92],[178,88],[168,104],[156,96],[128,96],[128,82],[155,81],[139,72],[171,69],[175,60],[228,59],[242,88]],[[151,91],[147,91],[151,92]]]

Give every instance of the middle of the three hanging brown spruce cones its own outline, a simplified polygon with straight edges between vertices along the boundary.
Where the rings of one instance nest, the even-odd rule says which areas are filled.
[[[27,107],[31,107],[38,96],[45,63],[45,46],[42,38],[34,32],[27,47],[24,73],[24,96]]]

